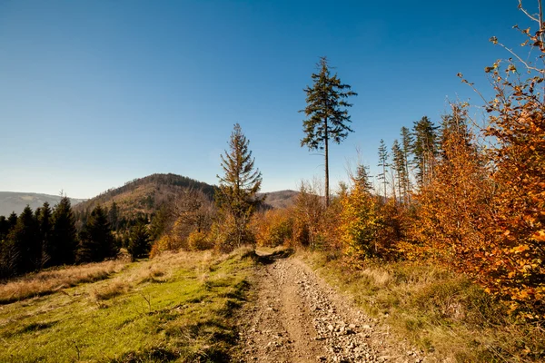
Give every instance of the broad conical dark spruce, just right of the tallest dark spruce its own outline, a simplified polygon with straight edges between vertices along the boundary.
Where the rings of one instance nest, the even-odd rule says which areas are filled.
[[[80,233],[80,240],[77,252],[79,262],[97,262],[114,257],[117,253],[107,214],[100,205],[91,212]]]

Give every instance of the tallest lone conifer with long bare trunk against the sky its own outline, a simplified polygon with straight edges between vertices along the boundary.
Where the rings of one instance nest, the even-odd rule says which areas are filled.
[[[320,73],[312,74],[312,87],[304,89],[307,106],[301,112],[307,119],[302,122],[305,137],[301,146],[325,152],[325,204],[329,206],[329,141],[341,143],[353,132],[346,110],[352,103],[344,100],[357,93],[351,91],[350,85],[341,83],[337,74],[331,75],[326,57],[320,58],[317,67]]]

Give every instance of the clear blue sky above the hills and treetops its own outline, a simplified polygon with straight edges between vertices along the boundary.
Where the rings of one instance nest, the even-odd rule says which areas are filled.
[[[533,6],[533,1],[525,3]],[[233,123],[263,191],[322,176],[300,146],[319,56],[359,96],[331,148],[332,186],[380,139],[448,100],[480,103],[483,69],[518,46],[517,0],[0,0],[0,191],[93,197],[154,172],[216,183]],[[531,9],[533,10],[533,9]]]

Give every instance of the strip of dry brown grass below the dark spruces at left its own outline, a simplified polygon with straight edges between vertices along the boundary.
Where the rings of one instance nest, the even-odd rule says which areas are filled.
[[[84,282],[104,280],[123,270],[125,265],[124,261],[111,260],[25,275],[0,285],[0,304],[51,294]]]

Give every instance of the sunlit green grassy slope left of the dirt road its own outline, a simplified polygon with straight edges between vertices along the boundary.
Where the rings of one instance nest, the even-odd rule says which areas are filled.
[[[0,307],[0,361],[228,361],[248,253],[168,254]]]

